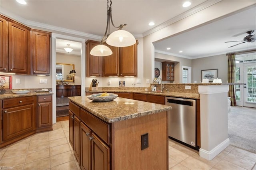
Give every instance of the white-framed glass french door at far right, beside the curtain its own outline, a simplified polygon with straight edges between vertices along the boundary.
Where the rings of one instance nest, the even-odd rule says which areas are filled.
[[[256,62],[236,63],[236,105],[256,108]]]

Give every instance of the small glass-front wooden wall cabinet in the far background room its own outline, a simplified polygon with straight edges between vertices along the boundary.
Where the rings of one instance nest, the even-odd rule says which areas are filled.
[[[162,62],[162,81],[174,81],[174,63]]]

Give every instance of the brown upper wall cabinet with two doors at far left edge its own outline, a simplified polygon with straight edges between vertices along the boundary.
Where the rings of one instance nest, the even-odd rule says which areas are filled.
[[[1,65],[0,71],[18,74],[30,74],[30,28],[1,19]]]

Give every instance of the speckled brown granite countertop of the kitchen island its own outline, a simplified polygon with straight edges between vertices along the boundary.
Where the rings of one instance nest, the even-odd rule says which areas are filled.
[[[96,117],[113,123],[171,110],[172,107],[117,97],[113,101],[94,102],[86,96],[68,97]]]

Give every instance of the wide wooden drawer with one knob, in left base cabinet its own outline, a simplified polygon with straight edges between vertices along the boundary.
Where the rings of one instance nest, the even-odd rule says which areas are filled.
[[[3,108],[34,104],[34,97],[17,97],[3,100]]]

